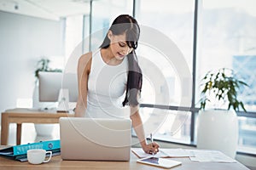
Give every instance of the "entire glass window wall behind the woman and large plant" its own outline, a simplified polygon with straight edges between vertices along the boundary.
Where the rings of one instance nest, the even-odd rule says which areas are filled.
[[[143,69],[143,107],[140,112],[144,128],[146,134],[154,132],[155,139],[172,142],[191,144],[196,139],[201,78],[210,70],[222,67],[233,69],[250,85],[249,88],[242,88],[239,94],[250,114],[238,113],[238,150],[256,153],[253,139],[256,133],[256,79],[253,74],[256,67],[256,3],[254,0],[198,2],[198,17],[195,19],[198,21],[198,37],[195,44],[195,1],[93,1],[91,50],[100,46],[116,16],[132,15],[135,11],[142,29],[137,55]],[[158,42],[157,37],[161,37],[162,42]],[[172,47],[167,52],[173,49],[177,52],[171,60],[166,47]],[[196,51],[195,61],[193,50]],[[177,56],[180,54],[183,59],[177,63],[175,59],[179,59]],[[179,67],[186,68],[190,77],[181,77]],[[195,96],[192,96],[193,84],[190,80],[193,70]],[[194,99],[195,107],[191,103]]]

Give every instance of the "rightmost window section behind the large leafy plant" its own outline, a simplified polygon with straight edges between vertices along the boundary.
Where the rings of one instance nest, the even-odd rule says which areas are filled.
[[[210,70],[233,69],[249,87],[242,88],[239,99],[247,111],[256,111],[256,12],[255,1],[203,0],[200,6],[196,87]],[[198,88],[196,88],[198,89]],[[196,92],[196,99],[200,97]],[[199,106],[199,105],[197,105]],[[239,116],[239,150],[252,147],[256,133],[255,118]]]

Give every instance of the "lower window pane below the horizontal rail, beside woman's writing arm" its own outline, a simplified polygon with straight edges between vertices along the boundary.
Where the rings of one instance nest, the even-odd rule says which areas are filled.
[[[190,143],[190,112],[144,107],[140,115],[146,135],[155,133],[154,139]]]

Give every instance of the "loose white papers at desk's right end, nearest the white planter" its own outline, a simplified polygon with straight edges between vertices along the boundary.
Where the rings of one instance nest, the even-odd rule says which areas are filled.
[[[189,156],[191,161],[218,161],[218,162],[236,162],[236,160],[225,156],[224,153],[218,150],[188,150],[194,156]]]

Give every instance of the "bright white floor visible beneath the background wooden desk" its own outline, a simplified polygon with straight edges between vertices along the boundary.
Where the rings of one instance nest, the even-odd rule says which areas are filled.
[[[21,144],[45,141],[45,140],[54,140],[60,139],[60,127],[59,124],[50,125],[53,126],[52,133],[49,135],[39,136],[36,132],[33,123],[23,123],[21,131]],[[9,145],[16,144],[16,125],[9,125]]]

